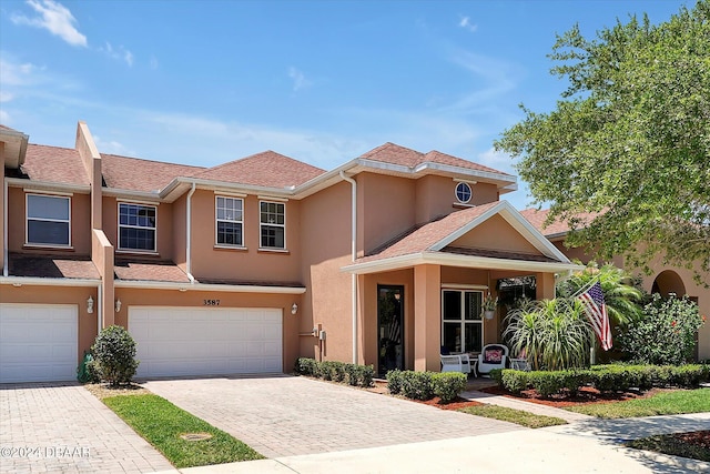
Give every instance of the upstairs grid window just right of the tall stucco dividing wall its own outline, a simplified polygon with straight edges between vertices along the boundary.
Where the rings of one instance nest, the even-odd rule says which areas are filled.
[[[154,205],[119,203],[119,250],[155,252]]]

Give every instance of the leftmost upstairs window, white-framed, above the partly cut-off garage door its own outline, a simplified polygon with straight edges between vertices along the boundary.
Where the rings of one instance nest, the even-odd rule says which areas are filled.
[[[70,245],[71,200],[64,196],[27,195],[27,243]]]

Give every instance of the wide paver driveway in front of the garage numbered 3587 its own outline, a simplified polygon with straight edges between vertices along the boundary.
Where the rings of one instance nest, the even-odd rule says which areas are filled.
[[[287,375],[158,380],[144,386],[267,457],[521,430],[510,423]]]

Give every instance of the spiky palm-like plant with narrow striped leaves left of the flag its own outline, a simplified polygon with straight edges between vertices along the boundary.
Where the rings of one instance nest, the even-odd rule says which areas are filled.
[[[578,300],[558,297],[513,310],[504,337],[535,370],[556,371],[588,364],[594,331]]]

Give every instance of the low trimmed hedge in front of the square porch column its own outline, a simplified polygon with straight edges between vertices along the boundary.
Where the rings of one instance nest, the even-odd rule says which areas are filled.
[[[393,395],[413,400],[432,400],[450,403],[466,389],[467,377],[458,372],[415,372],[394,370],[387,372],[387,389]]]

